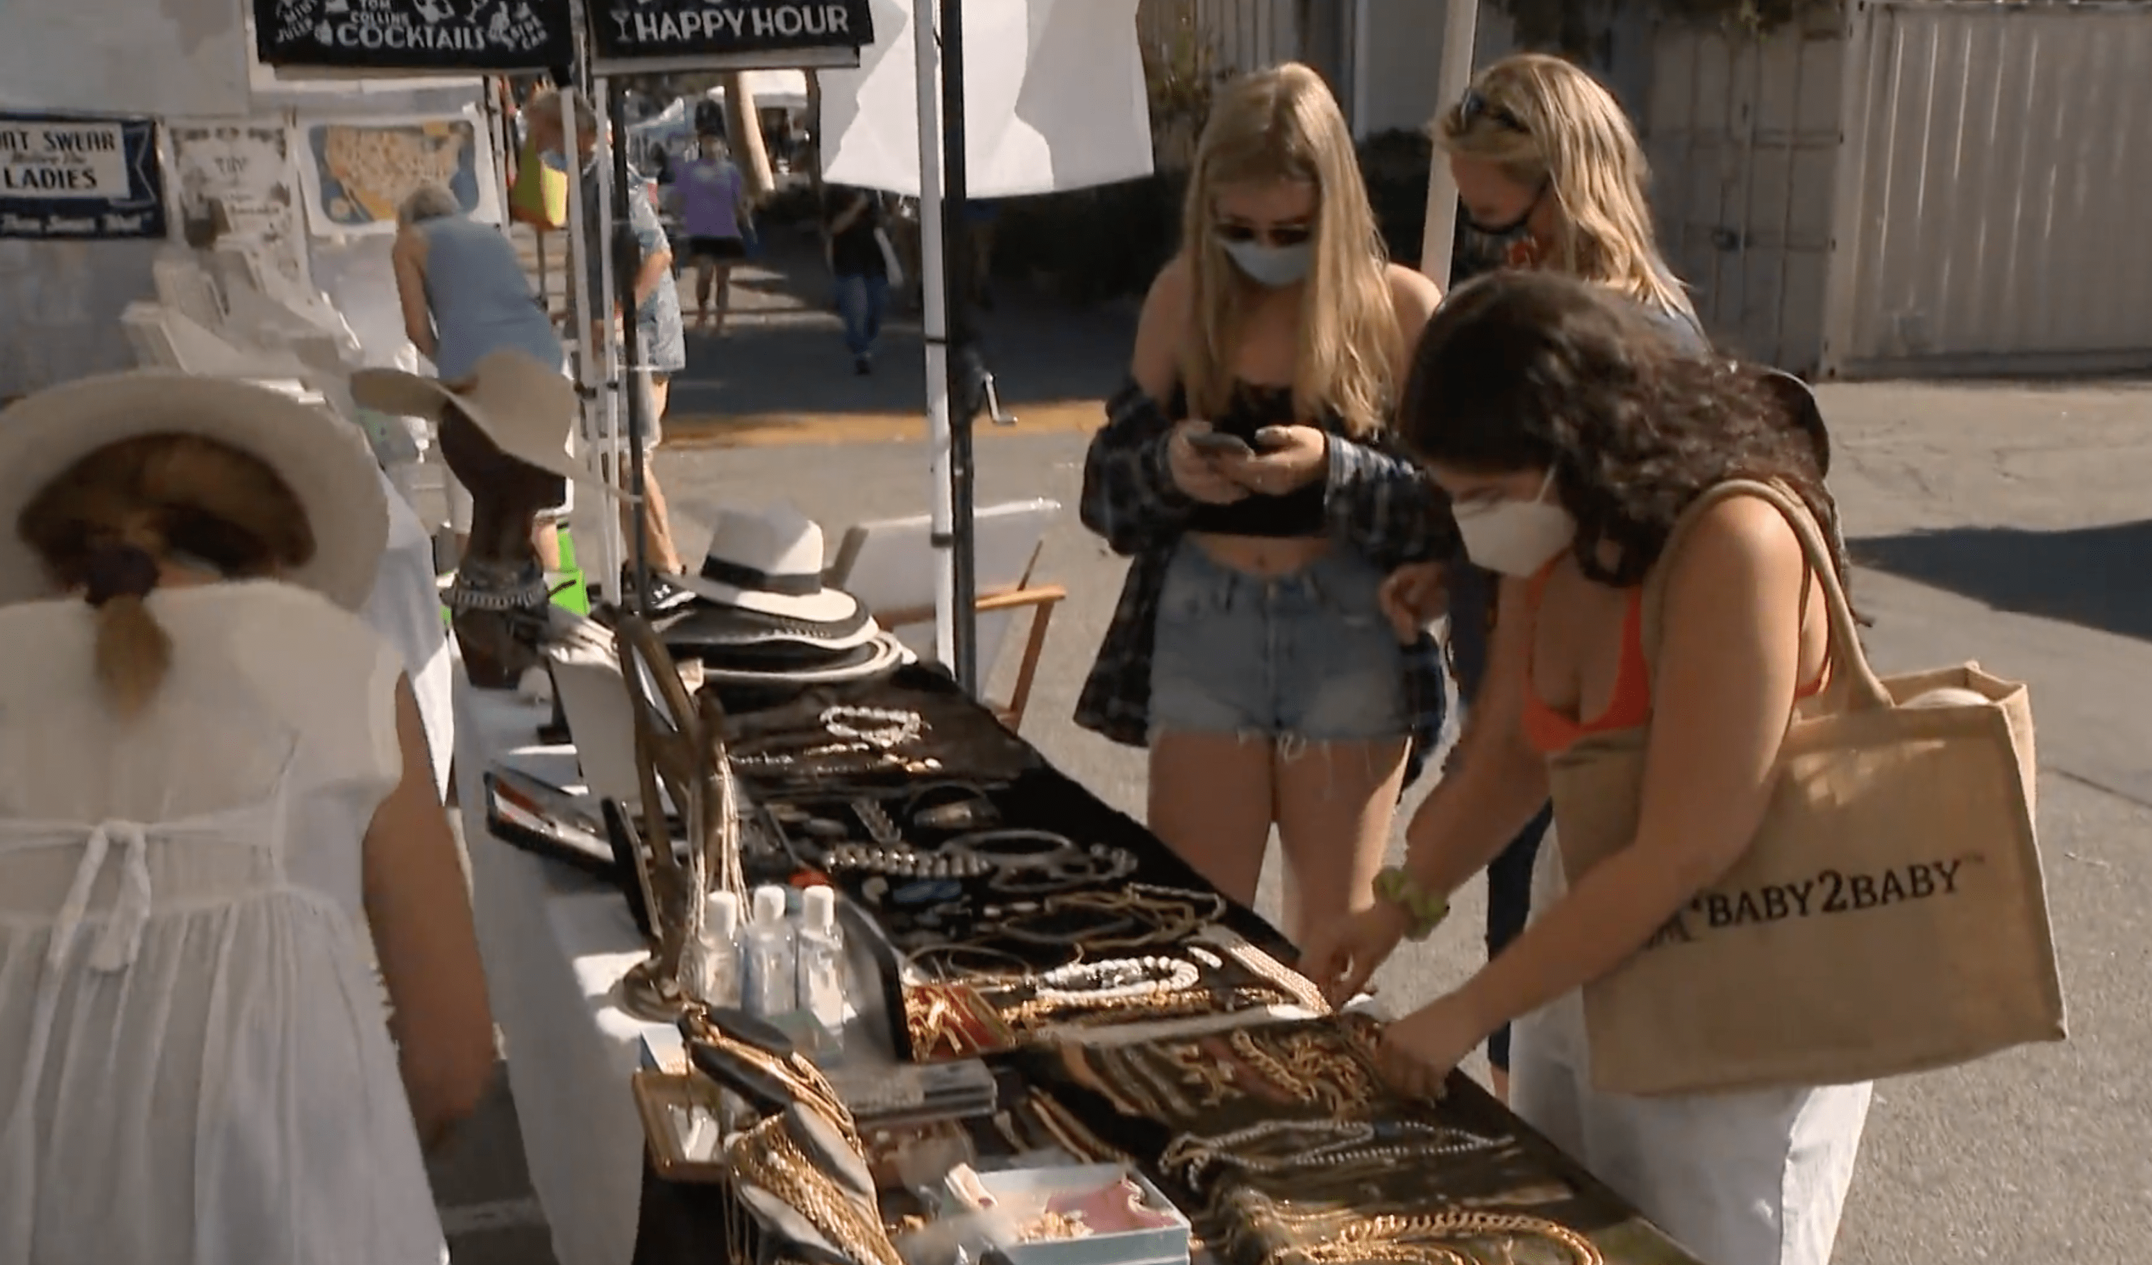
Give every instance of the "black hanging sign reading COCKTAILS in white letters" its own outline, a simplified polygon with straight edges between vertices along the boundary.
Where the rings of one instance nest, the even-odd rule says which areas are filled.
[[[269,67],[540,71],[575,60],[568,0],[254,0]]]

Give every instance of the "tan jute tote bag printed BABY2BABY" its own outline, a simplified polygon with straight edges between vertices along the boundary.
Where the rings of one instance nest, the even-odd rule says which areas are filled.
[[[2064,1039],[2025,686],[1971,663],[1879,678],[1814,518],[1778,486],[1713,488],[1663,557],[1726,497],[1771,501],[1799,534],[1829,607],[1831,682],[1795,714],[1732,871],[1584,987],[1592,1084],[1849,1084]],[[1659,574],[1644,589],[1648,654]],[[1907,706],[1941,688],[1971,693]],[[1636,837],[1646,738],[1590,736],[1552,764],[1571,884]]]

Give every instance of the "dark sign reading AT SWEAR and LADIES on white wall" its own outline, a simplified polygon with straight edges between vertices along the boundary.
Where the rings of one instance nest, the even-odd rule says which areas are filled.
[[[0,114],[0,237],[164,237],[151,118]]]

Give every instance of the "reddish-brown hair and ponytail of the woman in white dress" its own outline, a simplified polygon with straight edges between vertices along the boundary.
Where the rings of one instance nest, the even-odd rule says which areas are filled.
[[[15,531],[62,589],[90,583],[99,555],[189,553],[226,577],[263,577],[314,557],[306,508],[260,458],[198,435],[142,435],[99,447],[24,506]],[[97,682],[133,716],[172,667],[172,639],[136,594],[97,607]]]

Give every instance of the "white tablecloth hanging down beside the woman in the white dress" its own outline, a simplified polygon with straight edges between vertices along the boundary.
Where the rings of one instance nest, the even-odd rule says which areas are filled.
[[[560,1265],[628,1265],[643,1183],[643,1127],[628,1082],[643,1065],[643,1035],[671,1035],[613,1005],[613,985],[643,960],[643,942],[618,889],[486,830],[484,772],[493,762],[555,785],[579,783],[572,749],[534,744],[549,714],[456,682],[456,794],[478,949],[553,1256]]]

